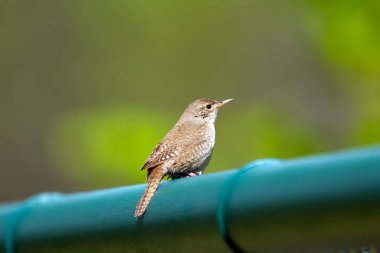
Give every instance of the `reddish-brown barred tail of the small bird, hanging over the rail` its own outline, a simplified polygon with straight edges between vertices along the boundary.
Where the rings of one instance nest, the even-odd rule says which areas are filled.
[[[153,168],[148,176],[148,185],[145,189],[144,194],[142,195],[139,203],[137,203],[135,217],[140,217],[146,210],[150,199],[153,197],[154,193],[157,190],[158,185],[162,177],[164,176],[164,169],[162,166],[157,166]]]

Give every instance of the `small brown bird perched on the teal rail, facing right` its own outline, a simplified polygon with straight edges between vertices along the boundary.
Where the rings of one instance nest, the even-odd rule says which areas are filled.
[[[199,99],[191,103],[177,124],[155,147],[141,170],[148,170],[148,185],[136,206],[141,216],[161,179],[199,176],[211,159],[218,110],[233,99]]]

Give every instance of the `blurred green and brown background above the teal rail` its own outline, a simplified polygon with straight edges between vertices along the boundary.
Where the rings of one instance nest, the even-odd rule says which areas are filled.
[[[206,172],[380,140],[380,1],[1,1],[0,201],[145,181],[195,99]]]

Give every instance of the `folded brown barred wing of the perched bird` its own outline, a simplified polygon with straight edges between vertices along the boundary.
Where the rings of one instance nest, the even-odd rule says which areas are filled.
[[[141,170],[157,167],[175,155],[176,146],[168,145],[162,141],[154,148]]]

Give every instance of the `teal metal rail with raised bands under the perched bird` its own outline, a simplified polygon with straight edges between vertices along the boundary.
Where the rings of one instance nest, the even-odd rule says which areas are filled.
[[[0,252],[334,252],[380,244],[380,146],[0,205]],[[339,251],[340,252],[340,251]]]

